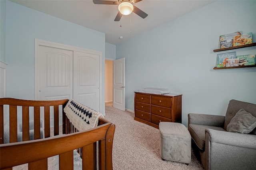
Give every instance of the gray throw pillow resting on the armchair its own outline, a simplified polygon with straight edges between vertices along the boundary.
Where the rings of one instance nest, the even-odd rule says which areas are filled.
[[[256,117],[244,109],[240,109],[227,126],[228,132],[250,133],[256,127]]]

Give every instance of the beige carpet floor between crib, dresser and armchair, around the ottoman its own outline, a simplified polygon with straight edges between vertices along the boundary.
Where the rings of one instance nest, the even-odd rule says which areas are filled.
[[[106,119],[116,125],[113,142],[114,170],[204,170],[192,152],[191,163],[163,161],[159,130],[134,121],[134,113],[106,105]]]

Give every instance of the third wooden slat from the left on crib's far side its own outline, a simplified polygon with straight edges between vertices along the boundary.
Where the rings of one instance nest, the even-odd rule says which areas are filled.
[[[29,107],[22,106],[22,141],[29,141]]]

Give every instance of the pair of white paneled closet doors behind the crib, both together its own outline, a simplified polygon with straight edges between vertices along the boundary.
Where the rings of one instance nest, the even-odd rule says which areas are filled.
[[[36,100],[75,99],[100,110],[100,57],[39,45]]]

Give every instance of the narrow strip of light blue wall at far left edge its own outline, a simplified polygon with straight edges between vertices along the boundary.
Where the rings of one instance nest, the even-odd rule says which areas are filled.
[[[0,61],[5,62],[5,6],[6,0],[0,0]]]

